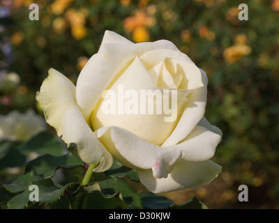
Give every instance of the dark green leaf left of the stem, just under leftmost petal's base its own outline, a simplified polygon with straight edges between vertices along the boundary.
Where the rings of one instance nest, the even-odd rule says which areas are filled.
[[[73,153],[67,153],[62,156],[45,154],[28,162],[25,171],[28,172],[33,169],[36,174],[42,175],[44,178],[50,178],[54,176],[56,169],[59,167],[64,169],[73,169],[75,167],[79,167],[83,163],[84,162],[80,160],[80,157],[77,157]]]

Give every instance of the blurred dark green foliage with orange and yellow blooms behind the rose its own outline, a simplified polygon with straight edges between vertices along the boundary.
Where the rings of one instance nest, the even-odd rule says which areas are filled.
[[[39,20],[29,20],[37,3]],[[239,4],[247,3],[248,21]],[[74,83],[106,29],[135,43],[167,39],[209,77],[206,118],[223,131],[213,158],[223,172],[209,185],[170,192],[196,195],[209,208],[279,208],[279,0],[2,0],[0,109],[36,105],[47,70]],[[239,185],[249,201],[238,201]],[[137,187],[135,187],[137,190]]]

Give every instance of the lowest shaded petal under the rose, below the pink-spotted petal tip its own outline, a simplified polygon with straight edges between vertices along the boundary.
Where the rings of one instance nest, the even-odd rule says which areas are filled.
[[[153,193],[164,193],[182,188],[210,183],[222,171],[222,167],[206,160],[202,162],[176,162],[167,178],[154,178],[151,170],[138,169],[140,181]]]

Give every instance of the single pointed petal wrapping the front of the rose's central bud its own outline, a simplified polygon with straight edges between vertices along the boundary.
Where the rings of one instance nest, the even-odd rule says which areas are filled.
[[[114,79],[109,87],[109,91],[112,91],[112,93],[116,95],[116,100],[113,99],[115,106],[113,106],[111,112],[104,112],[104,105],[107,104],[107,102],[110,103],[112,98],[108,97],[99,100],[91,114],[93,129],[98,130],[104,126],[114,125],[129,130],[138,137],[142,137],[142,139],[150,141],[153,144],[163,144],[165,139],[167,139],[169,134],[174,130],[183,112],[187,98],[176,93],[163,94],[163,91],[155,86],[149,76],[149,72],[144,68],[138,57],[136,57],[133,63],[119,76],[120,77],[117,76],[117,78]],[[127,114],[127,109],[123,108],[127,101],[129,101],[128,99],[124,100],[124,93],[126,94],[129,91],[135,93],[135,98],[129,99],[133,101],[133,107],[136,107],[135,113],[131,114]],[[156,97],[152,97],[153,104],[151,104],[151,100],[144,96],[146,102],[151,102],[149,105],[146,105],[146,102],[142,100],[143,97],[141,93],[148,91],[151,91],[151,96],[153,96],[153,93],[156,93]],[[160,99],[158,103],[156,103],[156,99],[158,99],[157,95],[159,98],[163,99]],[[177,103],[172,103],[172,96],[173,98],[177,97]],[[174,100],[175,99],[173,99],[173,102]],[[120,105],[120,103],[123,105]],[[172,106],[173,104],[175,105]],[[158,110],[156,105],[158,105]],[[164,105],[172,107],[171,114],[164,113]],[[153,109],[153,114],[149,114],[149,108]],[[142,109],[143,112],[141,112]],[[110,114],[108,114],[109,112]],[[171,118],[173,119],[171,121],[165,121],[165,118],[169,118],[169,120],[171,120]],[[131,123],[133,124],[131,125]],[[160,126],[160,128],[158,128],[158,126]]]

